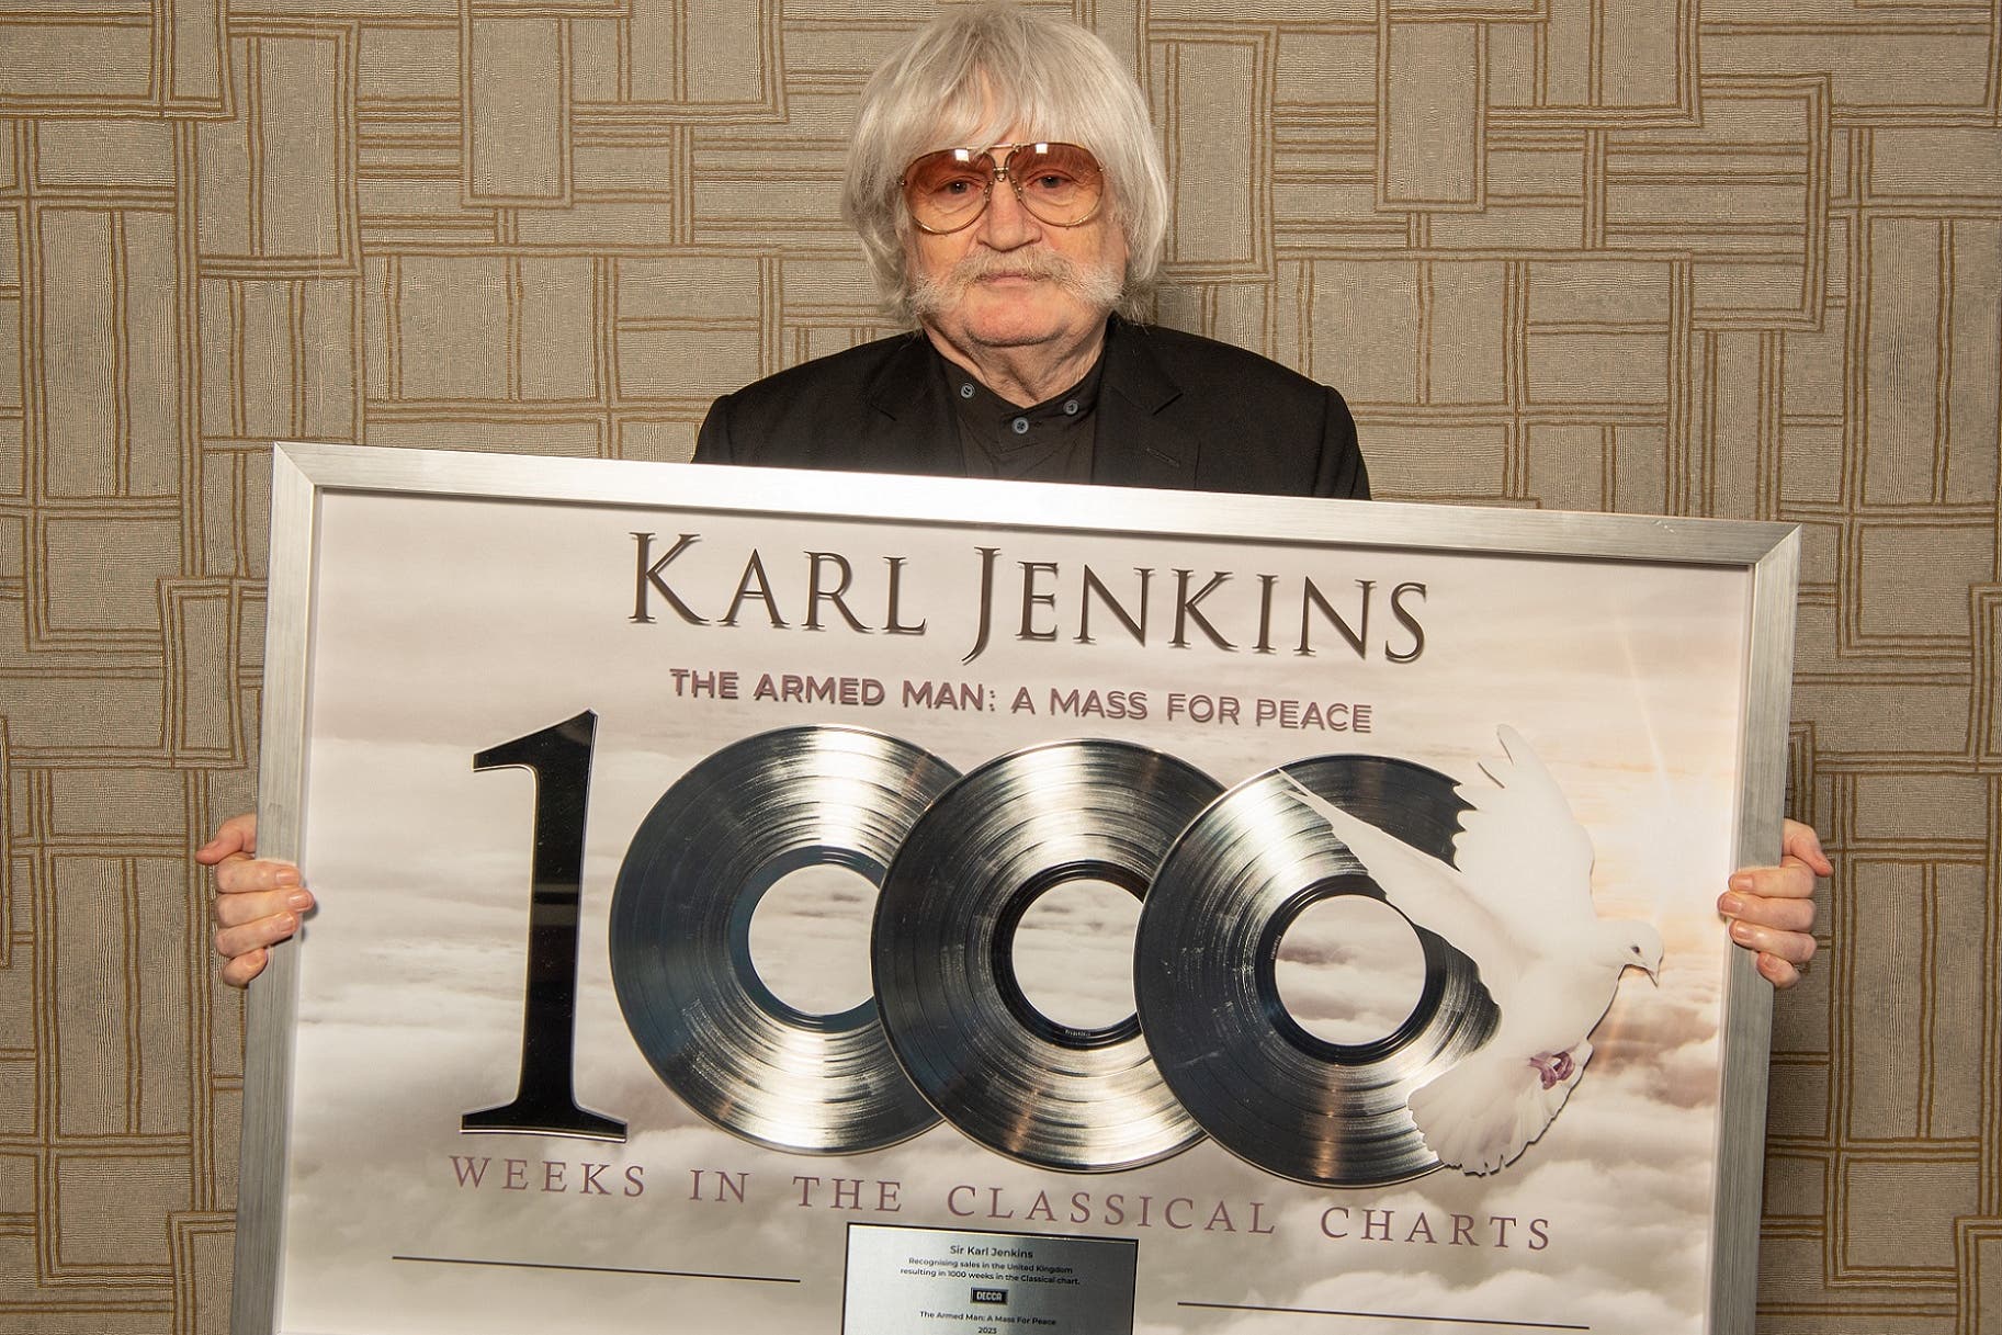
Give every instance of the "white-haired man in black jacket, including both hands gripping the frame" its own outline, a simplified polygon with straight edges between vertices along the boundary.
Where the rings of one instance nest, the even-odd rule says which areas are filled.
[[[1083,28],[1013,6],[923,28],[863,90],[841,212],[915,332],[719,398],[699,462],[1367,498],[1341,394],[1115,314],[1161,264],[1167,176],[1141,90]],[[240,987],[312,895],[256,857],[254,817],[196,859]],[[1814,955],[1830,871],[1790,821],[1780,865],[1718,903],[1776,987]]]

